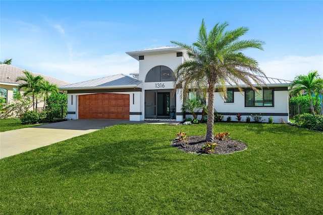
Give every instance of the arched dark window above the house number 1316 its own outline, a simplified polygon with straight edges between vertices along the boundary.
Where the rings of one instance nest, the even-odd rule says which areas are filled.
[[[166,66],[157,66],[149,70],[145,82],[174,81],[174,72]]]

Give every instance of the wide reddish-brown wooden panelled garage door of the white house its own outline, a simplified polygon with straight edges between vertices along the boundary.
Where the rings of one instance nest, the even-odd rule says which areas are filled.
[[[129,120],[129,94],[79,95],[79,119]]]

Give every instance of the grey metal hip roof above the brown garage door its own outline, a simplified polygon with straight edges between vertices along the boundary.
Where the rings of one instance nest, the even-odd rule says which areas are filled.
[[[116,88],[116,87],[125,87],[132,88],[138,87],[141,84],[141,81],[138,81],[135,78],[129,77],[124,74],[118,74],[114,76],[108,76],[103,78],[97,78],[89,81],[78,82],[74,84],[68,84],[61,86],[60,89],[88,89],[88,88]]]

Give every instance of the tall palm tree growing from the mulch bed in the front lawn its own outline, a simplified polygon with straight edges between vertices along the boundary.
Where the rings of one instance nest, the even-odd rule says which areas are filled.
[[[263,50],[262,44],[264,42],[254,39],[240,40],[239,38],[248,31],[248,28],[240,27],[225,31],[228,25],[226,22],[218,23],[207,33],[204,20],[202,20],[197,41],[192,46],[172,41],[172,43],[185,48],[190,58],[175,70],[175,84],[182,85],[185,89],[192,83],[207,83],[208,116],[205,140],[211,142],[213,141],[214,91],[217,89],[222,97],[226,98],[228,83],[235,84],[241,92],[241,84],[248,85],[258,91],[252,81],[261,88],[260,84],[264,83],[261,76],[265,77],[258,67],[258,63],[241,52],[247,48]]]

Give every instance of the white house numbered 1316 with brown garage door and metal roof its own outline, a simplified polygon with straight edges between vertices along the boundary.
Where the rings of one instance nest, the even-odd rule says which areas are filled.
[[[139,71],[61,86],[68,93],[68,118],[71,119],[170,119],[183,121],[182,89],[174,91],[174,70],[188,60],[185,49],[163,46],[126,52],[139,61]],[[255,94],[250,88],[240,93],[228,85],[225,102],[216,93],[214,108],[220,114],[231,116],[241,113],[242,119],[251,114],[288,122],[288,86],[290,81],[266,78],[267,86]],[[175,113],[172,113],[175,112]],[[189,117],[187,114],[185,117]]]

